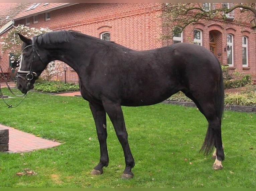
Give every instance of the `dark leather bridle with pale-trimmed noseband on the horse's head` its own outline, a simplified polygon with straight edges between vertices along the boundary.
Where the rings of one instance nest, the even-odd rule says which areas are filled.
[[[31,80],[35,77],[35,78],[38,78],[38,75],[36,74],[36,72],[33,72],[32,71],[32,65],[34,63],[34,60],[35,60],[35,53],[37,54],[37,56],[39,57],[39,59],[41,60],[41,62],[43,63],[42,61],[42,58],[40,57],[40,55],[38,54],[38,52],[36,51],[35,49],[35,43],[34,43],[34,39],[31,38],[31,41],[32,41],[32,45],[28,45],[26,46],[22,51],[21,51],[21,58],[20,58],[20,66],[19,66],[19,70],[17,71],[17,76],[16,78],[20,77],[22,78],[22,80],[26,80],[28,82],[27,86],[30,85],[30,82]],[[28,48],[28,47],[32,47],[33,48],[33,52],[32,52],[32,61],[30,63],[30,67],[29,67],[29,71],[24,71],[24,70],[21,70],[21,66],[22,66],[22,57],[23,57],[23,51]]]

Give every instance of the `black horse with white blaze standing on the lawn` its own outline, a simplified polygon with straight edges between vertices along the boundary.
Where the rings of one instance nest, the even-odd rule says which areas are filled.
[[[206,154],[215,147],[214,169],[222,168],[224,152],[221,120],[224,107],[222,70],[206,48],[177,43],[153,50],[135,51],[74,31],[48,32],[24,42],[17,76],[18,89],[26,94],[47,64],[60,60],[79,76],[81,95],[90,103],[98,140],[100,161],[92,174],[108,166],[106,113],[120,141],[125,169],[122,178],[132,178],[135,162],[129,147],[121,105],[159,103],[178,91],[192,99],[209,125],[201,148]]]

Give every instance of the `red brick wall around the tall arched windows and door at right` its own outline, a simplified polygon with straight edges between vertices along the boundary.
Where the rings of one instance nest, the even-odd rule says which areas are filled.
[[[238,9],[239,10],[239,9]],[[235,12],[235,17],[240,13]],[[236,20],[229,20],[223,23],[219,20],[205,21],[203,27],[203,46],[210,48],[209,45],[209,32],[215,31],[217,34],[217,57],[222,64],[227,64],[227,34],[233,35],[233,48],[234,48],[234,66],[230,67],[230,73],[238,72],[240,74],[251,74],[253,79],[256,80],[256,35],[252,34],[251,26],[247,25],[242,27]],[[195,25],[187,27],[183,32],[183,42],[191,42],[193,39],[193,30]],[[197,28],[197,27],[196,27]],[[242,36],[248,37],[248,67],[243,67],[242,59]],[[221,54],[218,56],[218,53]],[[235,75],[233,77],[236,77]]]

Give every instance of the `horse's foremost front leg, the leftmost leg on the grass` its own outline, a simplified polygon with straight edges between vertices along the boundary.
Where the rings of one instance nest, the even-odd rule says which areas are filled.
[[[100,143],[100,162],[94,167],[91,174],[99,175],[103,173],[103,167],[108,166],[109,157],[107,149],[107,123],[106,123],[106,111],[102,105],[90,103],[90,109],[93,114],[93,118],[96,125],[98,140]]]

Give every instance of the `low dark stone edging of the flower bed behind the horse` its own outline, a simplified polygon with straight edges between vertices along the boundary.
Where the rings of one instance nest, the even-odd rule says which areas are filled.
[[[165,104],[182,105],[186,107],[196,107],[194,102],[185,101],[163,101]],[[256,113],[256,107],[254,106],[243,106],[243,105],[224,105],[225,110],[242,111],[242,112],[254,112]]]

